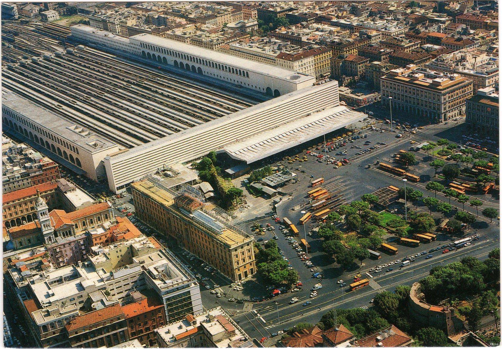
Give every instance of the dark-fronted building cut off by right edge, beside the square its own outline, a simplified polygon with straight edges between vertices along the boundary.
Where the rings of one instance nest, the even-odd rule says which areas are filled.
[[[472,133],[498,137],[498,93],[485,87],[465,101],[465,123]]]

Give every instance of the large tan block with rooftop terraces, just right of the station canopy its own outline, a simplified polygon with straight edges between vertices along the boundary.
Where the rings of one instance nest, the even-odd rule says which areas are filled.
[[[472,80],[417,68],[394,69],[380,79],[382,101],[406,115],[445,121],[465,113],[465,100],[472,96]]]

